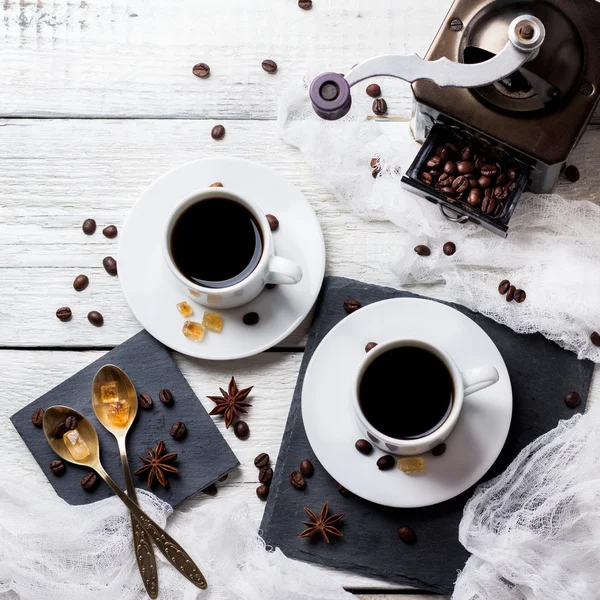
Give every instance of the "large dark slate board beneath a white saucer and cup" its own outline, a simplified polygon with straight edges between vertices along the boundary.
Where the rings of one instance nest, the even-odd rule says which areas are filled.
[[[350,279],[325,280],[275,468],[262,536],[267,544],[279,547],[291,558],[449,594],[457,571],[469,556],[458,541],[458,525],[473,489],[442,504],[418,509],[386,508],[356,496],[344,497],[319,464],[306,437],[300,408],[304,374],[320,341],[346,316],[343,302],[349,297],[366,306],[388,298],[419,296]],[[559,420],[575,414],[565,406],[563,396],[577,390],[582,398],[587,398],[594,364],[578,360],[542,335],[517,334],[463,306],[444,304],[464,313],[488,333],[500,350],[512,381],[510,433],[485,480],[502,472],[524,446],[553,429]],[[585,402],[577,412],[584,409]],[[313,462],[315,474],[307,480],[305,490],[297,490],[289,484],[288,475],[298,469],[303,458]],[[316,538],[298,539],[303,529],[301,521],[306,519],[303,507],[318,510],[325,500],[329,500],[330,510],[345,515],[344,537],[335,538],[329,545]],[[417,532],[416,545],[407,546],[399,540],[397,528],[403,524]]]

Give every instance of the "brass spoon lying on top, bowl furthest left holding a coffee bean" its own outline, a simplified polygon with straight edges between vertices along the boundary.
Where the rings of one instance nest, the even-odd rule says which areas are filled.
[[[56,428],[64,423],[67,417],[76,417],[77,431],[87,444],[89,455],[75,460],[65,445],[62,437],[56,437]],[[164,530],[159,527],[127,494],[111,479],[100,462],[100,445],[94,426],[80,413],[67,406],[51,406],[44,414],[44,435],[48,443],[63,460],[93,469],[104,479],[108,487],[123,501],[142,529],[150,536],[157,548],[168,561],[194,585],[202,590],[207,587],[206,579],[190,558],[189,554]]]

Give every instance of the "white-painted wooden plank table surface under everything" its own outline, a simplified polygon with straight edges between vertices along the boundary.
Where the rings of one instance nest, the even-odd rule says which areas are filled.
[[[18,408],[89,364],[140,329],[119,282],[102,258],[118,240],[81,232],[93,217],[99,229],[120,226],[141,191],[157,176],[205,156],[239,156],[268,164],[306,194],[321,221],[327,273],[397,285],[387,266],[398,233],[390,223],[366,223],[321,189],[301,155],[286,146],[274,122],[281,90],[319,62],[344,72],[384,53],[423,54],[450,0],[4,0],[0,31],[0,419],[3,444],[22,444],[7,425]],[[261,69],[270,58],[275,75]],[[197,62],[209,79],[191,73]],[[389,104],[386,130],[407,152],[416,145],[407,121],[407,85],[380,81]],[[364,94],[358,101],[369,103]],[[210,137],[222,123],[224,140]],[[598,198],[593,125],[574,162],[582,179],[562,183],[568,197]],[[90,277],[77,293],[72,281]],[[421,290],[423,291],[423,290]],[[428,288],[443,297],[443,289]],[[69,305],[76,318],[56,319]],[[102,328],[84,315],[99,310]],[[260,451],[276,458],[302,360],[308,324],[277,349],[233,363],[176,355],[200,398],[231,374],[256,386],[252,435],[227,440],[242,467],[219,496],[250,503],[257,524]],[[596,378],[598,379],[598,378]],[[19,385],[21,384],[21,385]],[[595,381],[593,396],[600,395]],[[259,399],[259,400],[258,400]],[[209,401],[206,402],[207,406]],[[222,427],[222,421],[217,421]],[[32,458],[24,468],[48,485]],[[194,502],[218,502],[202,497]],[[349,589],[390,593],[397,586],[331,570]],[[367,594],[367,595],[364,595]],[[413,600],[424,596],[410,595]],[[377,598],[382,599],[378,595]]]

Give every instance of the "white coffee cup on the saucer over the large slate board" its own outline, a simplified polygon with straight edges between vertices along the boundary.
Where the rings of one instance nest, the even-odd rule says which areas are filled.
[[[418,438],[401,439],[385,435],[371,425],[365,417],[359,402],[360,384],[368,367],[373,361],[385,354],[389,350],[401,347],[413,347],[426,350],[439,358],[450,373],[452,378],[454,393],[452,397],[452,406],[448,411],[446,419],[434,431]],[[352,404],[358,424],[365,434],[365,437],[386,453],[398,454],[400,456],[414,456],[429,452],[437,445],[441,444],[452,432],[460,413],[463,409],[464,399],[475,392],[483,390],[496,383],[499,379],[498,371],[491,365],[460,371],[452,357],[441,348],[416,339],[392,340],[378,344],[372,350],[367,352],[355,375],[354,385],[352,387]],[[402,381],[398,381],[402,386]]]

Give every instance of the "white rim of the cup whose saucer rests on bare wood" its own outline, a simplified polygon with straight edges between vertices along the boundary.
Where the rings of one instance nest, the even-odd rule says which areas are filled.
[[[252,216],[256,219],[256,222],[258,223],[261,229],[261,237],[263,243],[262,255],[256,266],[254,267],[254,270],[241,281],[238,281],[233,285],[222,288],[204,287],[195,283],[191,279],[188,279],[177,268],[177,265],[175,264],[175,261],[173,260],[173,257],[171,255],[171,233],[173,231],[175,222],[177,221],[179,216],[193,204],[196,204],[197,202],[202,202],[203,200],[208,200],[210,198],[223,198],[227,200],[234,200],[235,202],[238,202],[239,204],[247,208],[252,213]],[[177,279],[181,281],[181,283],[187,286],[190,290],[194,290],[200,294],[218,294],[219,292],[225,291],[227,291],[228,293],[235,293],[237,290],[241,290],[248,286],[248,284],[251,283],[253,280],[262,277],[261,267],[264,266],[265,262],[270,256],[272,243],[273,241],[271,238],[271,230],[269,228],[269,222],[267,221],[267,217],[254,202],[228,188],[214,187],[205,188],[194,192],[193,194],[190,194],[189,196],[186,196],[185,198],[180,200],[175,205],[175,207],[171,210],[169,216],[167,217],[166,226],[163,232],[162,248],[163,256],[167,265],[169,266],[169,269],[171,270],[173,275],[175,275],[175,277],[177,277]]]

